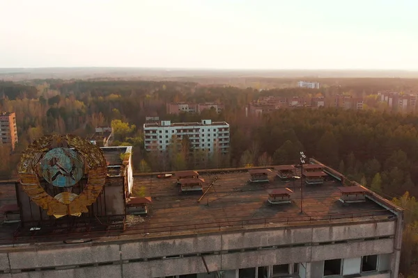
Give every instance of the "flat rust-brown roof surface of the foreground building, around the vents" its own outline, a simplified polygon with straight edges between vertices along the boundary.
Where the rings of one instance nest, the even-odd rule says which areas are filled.
[[[296,174],[300,174],[299,169],[296,170]],[[339,202],[341,183],[325,181],[320,186],[309,186],[302,183],[304,186],[303,213],[300,214],[300,181],[282,182],[275,179],[275,175],[275,172],[268,172],[270,182],[252,184],[247,182],[249,178],[247,170],[199,174],[199,177],[206,181],[203,183],[203,192],[208,190],[200,202],[198,200],[202,193],[180,193],[180,186],[178,186],[176,178],[157,179],[155,174],[152,176],[138,175],[134,177],[133,197],[139,197],[135,195],[139,191],[152,197],[152,203],[148,203],[148,215],[144,218],[138,216],[138,221],[128,222],[125,231],[117,231],[117,234],[114,234],[116,231],[112,232],[113,236],[117,236],[114,239],[108,238],[108,231],[89,231],[83,232],[83,235],[88,238],[96,238],[96,241],[109,241],[233,229],[265,229],[302,223],[329,225],[333,221],[353,222],[387,219],[392,216],[390,209],[395,208],[387,200],[366,189],[366,195],[370,196],[370,198],[366,198],[366,202],[355,205],[342,204]],[[209,188],[215,179],[217,181]],[[268,203],[269,193],[290,193],[286,188],[293,191],[291,203],[270,206]],[[11,226],[8,226],[7,229],[2,227],[0,243],[5,242],[6,238],[9,238],[10,241],[15,229],[16,227]],[[63,236],[67,239],[80,237],[80,233],[54,234],[54,236],[45,236],[41,231],[37,231],[37,233],[38,238],[32,236],[26,240],[34,240],[35,238],[37,241],[50,241],[58,240]]]

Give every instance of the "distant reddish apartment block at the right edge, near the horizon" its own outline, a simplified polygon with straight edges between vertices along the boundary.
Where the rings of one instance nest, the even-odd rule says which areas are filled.
[[[403,113],[417,110],[417,97],[415,92],[400,93],[390,90],[378,92],[380,102],[385,102],[393,111]]]

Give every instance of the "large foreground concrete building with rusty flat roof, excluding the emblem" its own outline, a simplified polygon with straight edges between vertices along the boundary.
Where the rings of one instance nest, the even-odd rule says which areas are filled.
[[[153,199],[123,230],[39,226],[30,234],[27,226],[21,236],[3,225],[0,277],[398,277],[403,210],[376,193],[336,174],[302,182],[302,203],[300,181],[274,179],[274,170],[265,183],[249,183],[242,169],[198,174],[204,196],[179,192],[176,180],[135,176],[134,188]],[[286,192],[286,202],[268,202],[272,192]]]

